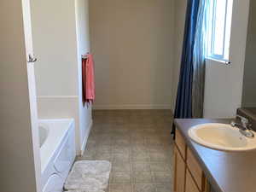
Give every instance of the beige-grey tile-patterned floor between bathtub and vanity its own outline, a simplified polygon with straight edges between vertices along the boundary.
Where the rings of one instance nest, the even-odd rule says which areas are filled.
[[[79,160],[109,160],[109,192],[172,192],[172,113],[95,110]]]

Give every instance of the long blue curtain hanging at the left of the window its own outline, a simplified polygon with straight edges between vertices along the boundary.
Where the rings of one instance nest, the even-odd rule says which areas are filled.
[[[207,2],[208,0],[188,0],[174,113],[174,118],[177,119],[191,119],[195,116],[197,118],[202,116]],[[172,133],[174,132],[175,127],[172,129]]]

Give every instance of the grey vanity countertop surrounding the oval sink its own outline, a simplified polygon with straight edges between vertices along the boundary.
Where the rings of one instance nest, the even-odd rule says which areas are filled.
[[[205,123],[230,123],[230,119],[175,119],[189,148],[201,163],[217,192],[256,192],[256,150],[224,152],[203,147],[189,138],[189,128]]]

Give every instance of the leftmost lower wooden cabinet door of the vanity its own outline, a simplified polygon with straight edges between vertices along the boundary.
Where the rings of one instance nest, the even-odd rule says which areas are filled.
[[[186,165],[177,147],[174,148],[174,192],[184,192]]]

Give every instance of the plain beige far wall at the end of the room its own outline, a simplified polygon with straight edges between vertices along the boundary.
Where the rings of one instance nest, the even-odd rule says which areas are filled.
[[[95,108],[172,108],[174,0],[90,0]]]

